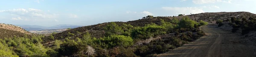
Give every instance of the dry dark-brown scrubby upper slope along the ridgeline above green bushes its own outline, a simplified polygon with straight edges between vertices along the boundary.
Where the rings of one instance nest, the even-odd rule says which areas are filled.
[[[201,14],[191,14],[191,15],[186,15],[190,19],[195,20],[199,22],[200,20],[209,22],[209,24],[215,24],[215,21],[218,19],[230,19],[231,17],[237,17],[237,18],[242,18],[242,17],[254,17],[256,18],[255,14],[252,14],[250,12],[216,12],[216,13],[201,13]],[[150,16],[149,16],[150,17]],[[160,24],[160,19],[163,19],[166,22],[170,22],[172,19],[177,18],[177,19],[182,19],[184,16],[157,16],[157,17],[152,17],[152,18],[144,18],[144,19],[138,19],[134,21],[128,21],[128,22],[115,22],[118,25],[122,25],[122,23],[125,24],[131,24],[134,27],[142,27],[145,26],[145,24]],[[64,38],[67,38],[69,34],[74,34],[73,37],[71,38],[76,38],[76,37],[83,37],[86,32],[89,32],[92,37],[100,38],[103,37],[105,34],[105,31],[103,30],[103,27],[108,25],[110,22],[102,23],[102,24],[95,24],[95,25],[90,25],[90,26],[84,26],[84,27],[78,27],[74,29],[70,29],[67,31],[64,31],[62,33],[57,33],[54,34],[53,37],[57,40],[63,40]],[[51,42],[55,41],[55,39],[50,39],[50,36],[43,38],[44,42]]]

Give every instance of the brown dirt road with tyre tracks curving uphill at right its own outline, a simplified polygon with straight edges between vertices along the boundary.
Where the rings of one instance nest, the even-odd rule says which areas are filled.
[[[240,43],[241,35],[215,26],[202,26],[200,29],[207,35],[157,57],[256,57]]]

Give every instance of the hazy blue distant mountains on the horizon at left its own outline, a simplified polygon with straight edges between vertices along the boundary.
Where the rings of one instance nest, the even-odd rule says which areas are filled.
[[[59,24],[52,27],[45,27],[45,26],[39,26],[39,25],[20,25],[20,27],[28,31],[35,31],[35,30],[76,28],[76,27],[81,27],[81,25]]]

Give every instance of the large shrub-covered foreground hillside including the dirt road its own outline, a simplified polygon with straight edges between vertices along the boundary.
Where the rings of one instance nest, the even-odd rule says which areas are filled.
[[[20,57],[252,57],[256,51],[255,21],[255,14],[249,12],[149,15],[49,36],[4,38],[0,45],[10,56]]]

